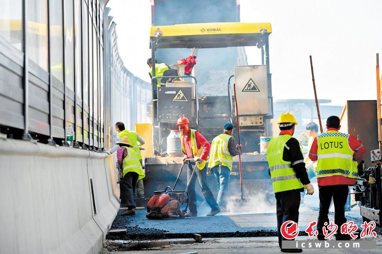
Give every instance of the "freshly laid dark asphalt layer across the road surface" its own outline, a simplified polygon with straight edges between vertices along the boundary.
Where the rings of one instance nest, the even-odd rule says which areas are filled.
[[[302,224],[308,225],[310,218],[316,218],[316,211],[301,213],[299,236],[307,236]],[[119,211],[110,229],[126,229],[126,234],[107,235],[109,240],[160,240],[174,238],[193,238],[200,234],[202,238],[223,237],[277,237],[276,218],[274,214],[196,217],[186,219],[149,220],[145,210],[137,210],[135,216],[124,216]],[[333,220],[330,213],[330,219]],[[362,224],[362,219],[347,217],[356,224]],[[274,221],[274,222],[269,222]],[[359,226],[360,228],[360,226]]]

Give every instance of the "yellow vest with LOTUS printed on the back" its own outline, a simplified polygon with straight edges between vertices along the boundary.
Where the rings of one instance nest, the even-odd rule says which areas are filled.
[[[353,161],[354,151],[348,139],[348,134],[338,131],[317,135],[317,178],[334,175],[358,178],[358,163]]]

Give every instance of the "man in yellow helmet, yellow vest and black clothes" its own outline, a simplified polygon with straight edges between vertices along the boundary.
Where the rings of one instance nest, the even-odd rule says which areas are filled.
[[[273,190],[276,197],[276,214],[278,245],[281,252],[302,252],[302,249],[283,249],[280,228],[282,223],[292,220],[298,223],[298,208],[300,207],[300,192],[307,189],[307,194],[314,192],[313,185],[308,179],[304,157],[300,144],[295,139],[295,117],[291,113],[282,113],[279,120],[280,134],[272,138],[267,148],[269,174],[272,178]]]

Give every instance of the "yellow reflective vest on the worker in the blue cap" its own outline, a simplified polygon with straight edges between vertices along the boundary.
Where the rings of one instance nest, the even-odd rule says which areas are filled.
[[[232,169],[233,157],[228,150],[228,141],[231,137],[233,136],[223,133],[212,140],[208,168],[211,169],[221,164],[226,166],[229,170]]]

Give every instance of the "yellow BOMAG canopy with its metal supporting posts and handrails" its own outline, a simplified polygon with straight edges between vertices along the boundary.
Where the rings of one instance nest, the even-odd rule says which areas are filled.
[[[266,120],[266,130],[272,132],[270,119],[273,119],[273,97],[272,81],[269,66],[269,35],[272,33],[270,23],[194,23],[176,24],[169,26],[152,26],[150,31],[150,47],[152,63],[156,61],[156,49],[175,49],[175,48],[224,48],[224,47],[244,47],[258,46],[261,49],[261,63],[266,64],[267,86],[268,86],[268,105],[269,113],[264,118]],[[264,49],[265,47],[265,49]],[[153,133],[158,128],[157,122],[157,85],[155,64],[152,65],[152,105],[153,105]],[[228,79],[228,97],[231,98],[230,79]],[[194,78],[195,79],[195,78]],[[195,79],[195,87],[196,79]],[[195,89],[197,90],[197,88]],[[229,100],[231,109],[230,120],[233,121],[233,106]],[[198,104],[198,94],[196,93],[196,103]],[[198,109],[197,105],[197,109]],[[199,116],[199,112],[197,112]],[[199,119],[197,117],[197,125]]]

